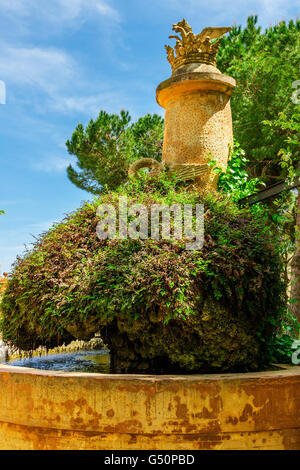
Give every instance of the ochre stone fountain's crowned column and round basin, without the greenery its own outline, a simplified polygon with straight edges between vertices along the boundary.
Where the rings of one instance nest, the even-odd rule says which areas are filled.
[[[212,191],[207,155],[225,169],[232,146],[235,81],[215,66],[230,28],[195,35],[182,20],[173,29],[181,37],[172,36],[175,52],[166,46],[172,76],[157,88],[166,109],[162,166]],[[299,389],[300,367],[135,375],[2,365],[0,449],[299,449]]]

